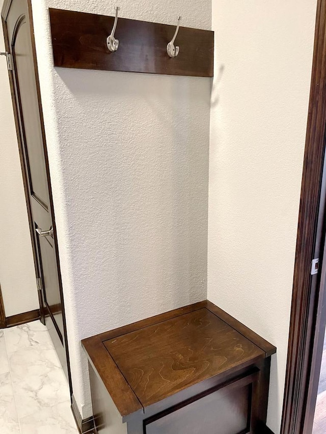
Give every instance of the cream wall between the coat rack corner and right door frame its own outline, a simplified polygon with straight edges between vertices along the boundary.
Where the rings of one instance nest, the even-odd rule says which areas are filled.
[[[316,1],[213,0],[208,298],[277,348],[279,432]]]

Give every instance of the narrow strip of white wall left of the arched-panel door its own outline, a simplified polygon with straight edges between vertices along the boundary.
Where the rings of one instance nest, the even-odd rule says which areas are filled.
[[[0,51],[5,51],[0,26]],[[0,58],[0,82],[0,285],[11,316],[38,309],[39,303],[5,57]]]

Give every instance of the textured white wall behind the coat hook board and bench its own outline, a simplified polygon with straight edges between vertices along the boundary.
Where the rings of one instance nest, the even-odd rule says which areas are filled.
[[[211,25],[210,0],[118,3],[123,17],[175,23],[180,14],[185,26]],[[211,80],[52,66],[47,7],[113,15],[114,6],[33,1],[73,390],[84,417],[80,339],[205,299],[207,288]]]

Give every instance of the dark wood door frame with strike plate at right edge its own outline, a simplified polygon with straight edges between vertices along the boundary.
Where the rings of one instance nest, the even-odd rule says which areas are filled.
[[[326,0],[318,0],[281,434],[310,434],[316,403],[326,321],[320,309],[326,266],[321,266],[326,233],[325,126]],[[317,257],[318,274],[311,275],[311,261]]]

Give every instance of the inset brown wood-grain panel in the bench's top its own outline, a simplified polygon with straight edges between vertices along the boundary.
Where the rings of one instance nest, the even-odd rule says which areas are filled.
[[[144,407],[265,353],[202,308],[103,342]]]

